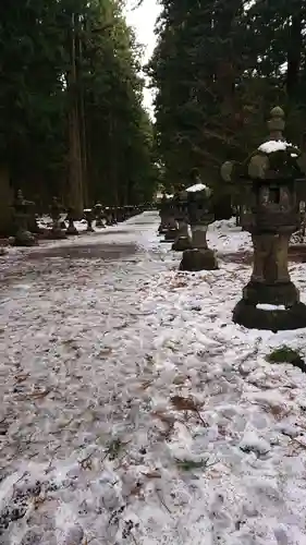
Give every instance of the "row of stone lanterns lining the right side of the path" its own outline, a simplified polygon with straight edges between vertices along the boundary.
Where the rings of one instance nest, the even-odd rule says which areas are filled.
[[[254,247],[252,277],[233,311],[233,320],[272,331],[306,327],[306,305],[299,301],[287,267],[290,238],[298,230],[301,203],[306,201],[306,160],[283,136],[284,126],[283,110],[273,108],[266,141],[244,162],[227,161],[221,167],[229,192],[240,195],[241,225],[250,233]],[[173,221],[178,221],[173,250],[184,250],[181,269],[217,268],[206,241],[208,225],[213,221],[208,187],[198,185],[164,196],[160,218],[160,232],[168,240],[174,234]]]

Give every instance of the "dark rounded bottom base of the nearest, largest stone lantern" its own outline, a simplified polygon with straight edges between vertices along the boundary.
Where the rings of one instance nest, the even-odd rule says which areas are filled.
[[[284,311],[267,311],[242,299],[233,312],[233,322],[248,329],[268,329],[273,332],[306,327],[306,305],[295,303]]]

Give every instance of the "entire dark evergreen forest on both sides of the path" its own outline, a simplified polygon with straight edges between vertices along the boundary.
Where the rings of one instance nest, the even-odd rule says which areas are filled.
[[[265,138],[276,105],[305,148],[306,2],[159,2],[152,122],[124,0],[1,0],[0,229],[17,189],[78,215],[197,175],[222,190],[220,165]]]

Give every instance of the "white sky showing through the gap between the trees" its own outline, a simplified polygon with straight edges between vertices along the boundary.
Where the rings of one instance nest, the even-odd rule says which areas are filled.
[[[154,27],[160,12],[160,5],[158,0],[143,0],[140,8],[133,10],[135,5],[137,5],[137,0],[126,0],[126,20],[128,25],[135,28],[138,43],[145,46],[144,62],[147,62],[156,44]],[[145,89],[144,106],[152,114],[151,104],[151,93],[149,89]]]

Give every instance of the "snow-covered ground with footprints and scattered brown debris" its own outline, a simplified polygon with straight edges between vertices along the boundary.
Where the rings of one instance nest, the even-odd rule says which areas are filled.
[[[265,360],[306,331],[232,324],[233,221],[199,274],[157,226],[0,258],[1,545],[306,544],[306,377]]]

